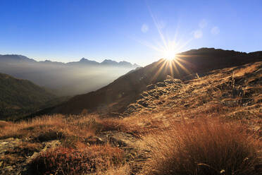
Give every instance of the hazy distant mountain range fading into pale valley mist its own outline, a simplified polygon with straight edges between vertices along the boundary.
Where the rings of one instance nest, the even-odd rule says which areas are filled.
[[[22,55],[0,55],[0,73],[32,81],[49,88],[58,96],[77,95],[107,85],[119,76],[139,67],[127,61],[106,59],[101,63],[82,58],[62,63],[35,61]]]

